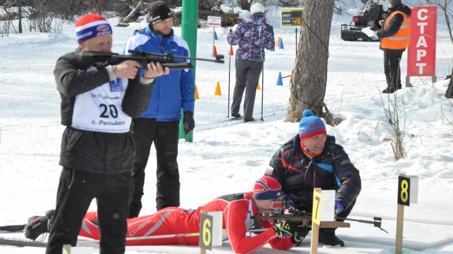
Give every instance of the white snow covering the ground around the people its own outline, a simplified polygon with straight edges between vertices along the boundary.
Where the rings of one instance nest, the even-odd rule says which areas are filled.
[[[178,164],[181,175],[181,207],[196,208],[223,194],[250,190],[263,175],[273,153],[297,134],[298,124],[283,122],[289,99],[289,80],[276,86],[279,72],[289,75],[295,59],[294,29],[280,29],[278,10],[269,12],[275,20],[275,35],[283,38],[284,50],[266,51],[264,90],[257,92],[252,123],[227,120],[228,88],[234,87],[234,58],[228,86],[226,64],[197,63],[196,84],[200,99],[195,104],[194,142],[180,140]],[[407,157],[395,161],[380,90],[385,88],[383,54],[378,43],[345,42],[340,24],[348,17],[334,17],[332,23],[327,92],[330,111],[345,120],[327,126],[360,170],[362,191],[351,217],[383,218],[386,234],[371,225],[351,223],[339,229],[347,248],[320,248],[320,253],[395,252],[396,188],[399,173],[419,176],[418,204],[406,207],[404,253],[453,254],[453,101],[444,98],[453,67],[453,46],[448,39],[443,14],[437,32],[437,83],[429,78],[412,78],[413,88],[397,92],[400,117],[406,118],[404,143]],[[112,20],[114,22],[114,20]],[[134,29],[113,27],[113,51],[121,52]],[[25,29],[26,30],[26,29]],[[181,34],[181,28],[174,28]],[[216,28],[217,52],[229,49],[228,28]],[[0,224],[25,223],[55,206],[61,167],[58,165],[60,139],[60,97],[53,69],[58,56],[76,48],[74,24],[65,24],[63,33],[10,34],[0,38]],[[212,54],[212,29],[198,30],[197,56]],[[237,47],[234,47],[236,51]],[[234,57],[234,56],[233,56]],[[401,71],[406,73],[407,53]],[[404,75],[403,80],[404,80]],[[214,96],[217,82],[222,96]],[[404,83],[403,83],[404,86]],[[264,105],[261,96],[264,91]],[[387,97],[383,96],[384,102]],[[393,96],[390,99],[394,99]],[[230,101],[231,102],[231,101]],[[403,110],[403,103],[405,112]],[[242,112],[240,112],[242,114]],[[155,212],[155,152],[147,167],[142,215]],[[90,210],[95,210],[93,203]],[[12,236],[15,234],[9,234]],[[309,238],[292,252],[309,253]],[[410,249],[409,249],[410,248]],[[415,249],[415,250],[414,250]],[[127,253],[195,253],[191,247],[128,247]],[[229,253],[227,243],[213,253]],[[42,249],[0,246],[0,253],[43,253]],[[258,253],[270,253],[261,250]],[[284,253],[284,252],[276,252]]]

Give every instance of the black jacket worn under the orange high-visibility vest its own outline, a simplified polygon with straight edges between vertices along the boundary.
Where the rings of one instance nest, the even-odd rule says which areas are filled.
[[[411,8],[409,8],[408,6],[406,6],[404,4],[399,4],[399,5],[393,6],[392,8],[389,8],[388,10],[389,10],[389,13],[387,14],[387,16],[384,19],[384,24],[392,12],[400,11],[400,12],[405,13],[407,15],[407,17],[411,16]],[[403,21],[404,21],[404,17],[399,13],[396,14],[395,16],[393,16],[392,19],[390,19],[390,23],[389,23],[387,29],[384,29],[384,27],[382,26],[381,30],[376,31],[376,35],[378,35],[379,39],[395,35],[398,32],[399,27],[401,27],[401,24],[403,23]],[[381,46],[379,46],[379,49],[382,51],[387,51],[387,52],[404,52],[406,50],[406,49],[402,49],[402,50],[384,49]]]

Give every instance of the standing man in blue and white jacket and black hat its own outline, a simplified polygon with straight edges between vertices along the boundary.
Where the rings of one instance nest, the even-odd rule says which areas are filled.
[[[149,26],[144,30],[134,32],[126,43],[125,53],[128,50],[136,50],[190,56],[187,42],[173,33],[171,28],[173,19],[167,3],[164,1],[153,2],[148,14]],[[181,59],[181,61],[186,60]],[[183,109],[186,134],[195,127],[193,120],[194,82],[191,69],[172,69],[169,75],[156,78],[150,105],[139,118],[133,121],[134,191],[129,218],[137,217],[142,207],[145,168],[153,142],[157,156],[156,208],[160,210],[168,206],[179,206],[180,183],[176,160],[179,120],[181,119],[181,109]]]

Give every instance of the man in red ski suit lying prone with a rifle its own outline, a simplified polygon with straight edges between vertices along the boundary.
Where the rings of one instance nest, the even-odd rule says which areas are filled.
[[[298,246],[308,234],[306,227],[299,227],[300,222],[282,221],[273,223],[263,220],[265,231],[252,237],[246,237],[246,232],[254,227],[254,216],[258,210],[271,209],[272,202],[282,199],[284,193],[279,182],[264,176],[255,182],[252,192],[230,194],[219,197],[196,210],[187,210],[179,207],[167,207],[153,215],[128,219],[126,237],[147,237],[173,234],[197,233],[200,230],[201,211],[222,211],[223,229],[235,253],[249,253],[263,247],[266,243],[274,249],[288,250]],[[52,211],[43,217],[32,217],[25,227],[25,236],[36,239],[40,234],[48,232],[51,226]],[[100,239],[100,229],[97,226],[97,213],[89,212],[85,215],[79,236]],[[198,245],[198,236],[183,236],[169,238],[147,238],[129,240],[126,245]]]

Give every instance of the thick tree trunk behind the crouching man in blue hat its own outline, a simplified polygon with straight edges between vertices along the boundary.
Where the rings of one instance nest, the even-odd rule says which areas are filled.
[[[289,108],[285,121],[297,122],[305,109],[322,115],[327,82],[329,35],[334,0],[305,0]]]

